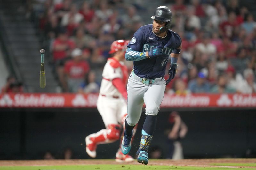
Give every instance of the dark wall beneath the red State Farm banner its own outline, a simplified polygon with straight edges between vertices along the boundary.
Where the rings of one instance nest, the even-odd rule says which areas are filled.
[[[188,126],[188,134],[182,140],[185,158],[255,157],[255,110],[179,112]],[[170,129],[169,113],[159,112],[151,143],[163,150],[163,158],[167,149],[164,131]],[[144,119],[143,113],[131,155],[140,143]],[[72,148],[74,158],[87,159],[85,136],[103,128],[96,109],[1,109],[0,159],[42,159],[46,151],[60,159],[67,147]],[[119,142],[99,145],[97,158],[114,158],[118,145]]]

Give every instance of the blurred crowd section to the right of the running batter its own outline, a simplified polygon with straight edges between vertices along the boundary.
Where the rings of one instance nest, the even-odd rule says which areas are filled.
[[[176,0],[172,30],[182,38],[168,92],[255,93],[256,22],[238,0]],[[172,88],[173,87],[173,88]]]

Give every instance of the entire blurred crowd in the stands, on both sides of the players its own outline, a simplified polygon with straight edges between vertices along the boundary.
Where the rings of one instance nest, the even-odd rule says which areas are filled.
[[[166,93],[256,92],[256,22],[246,6],[238,0],[163,0],[147,4],[149,10],[141,5],[147,1],[137,2],[33,2],[31,13],[62,92],[98,92],[111,43],[130,40],[151,24],[148,11],[160,5],[170,7],[171,29],[182,38],[178,71]],[[132,62],[126,64],[132,70]]]

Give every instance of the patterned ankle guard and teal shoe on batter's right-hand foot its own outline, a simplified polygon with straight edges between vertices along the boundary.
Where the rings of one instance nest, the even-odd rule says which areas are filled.
[[[152,135],[148,135],[144,130],[141,131],[140,147],[136,154],[138,155],[137,161],[139,163],[148,164],[148,148],[152,140]]]

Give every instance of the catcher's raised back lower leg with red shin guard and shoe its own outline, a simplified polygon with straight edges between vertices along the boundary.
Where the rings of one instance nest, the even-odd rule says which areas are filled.
[[[95,158],[98,144],[111,143],[119,139],[121,126],[119,124],[110,124],[107,129],[102,129],[97,133],[92,133],[85,138],[87,154]]]

